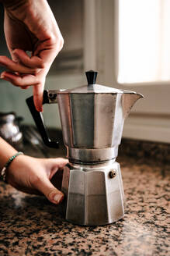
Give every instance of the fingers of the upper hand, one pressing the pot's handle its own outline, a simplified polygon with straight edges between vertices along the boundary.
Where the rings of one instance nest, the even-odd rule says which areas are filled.
[[[38,112],[43,112],[45,77],[63,43],[63,40],[60,44],[58,42],[56,44],[52,39],[42,41],[32,57],[29,57],[22,49],[16,48],[12,51],[12,59],[15,61],[6,56],[0,56],[0,65],[10,70],[10,72],[2,73],[1,78],[23,89],[33,86],[33,101]]]

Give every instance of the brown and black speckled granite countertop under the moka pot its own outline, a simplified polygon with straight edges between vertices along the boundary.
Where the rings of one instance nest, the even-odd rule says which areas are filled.
[[[126,212],[108,226],[75,226],[62,206],[0,183],[0,255],[169,255],[170,165],[119,162]]]

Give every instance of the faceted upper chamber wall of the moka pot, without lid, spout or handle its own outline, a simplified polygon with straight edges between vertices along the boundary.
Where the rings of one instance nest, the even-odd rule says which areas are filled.
[[[123,132],[123,94],[57,94],[68,158],[82,162],[116,158]]]

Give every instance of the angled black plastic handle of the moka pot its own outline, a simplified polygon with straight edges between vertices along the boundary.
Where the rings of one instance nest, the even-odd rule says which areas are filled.
[[[36,127],[40,132],[40,136],[42,137],[43,143],[50,148],[59,148],[58,141],[50,140],[50,138],[48,137],[47,130],[43,122],[43,114],[36,110],[36,107],[33,102],[33,96],[26,99],[26,104],[29,107],[31,115],[33,116],[34,122],[36,123]],[[49,104],[48,91],[43,91],[43,104]]]

